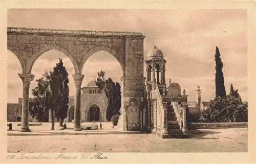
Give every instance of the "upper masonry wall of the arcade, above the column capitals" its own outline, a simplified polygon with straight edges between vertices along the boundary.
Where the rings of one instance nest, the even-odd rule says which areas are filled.
[[[13,52],[21,61],[23,71],[31,71],[34,61],[49,50],[57,50],[67,55],[76,73],[81,73],[84,62],[97,51],[106,51],[116,57],[124,71],[124,36],[143,37],[141,33],[133,32],[96,32],[96,31],[72,31],[72,30],[48,30],[8,28],[8,50]],[[131,39],[131,46],[135,45],[136,55],[143,54],[139,50],[142,42]],[[140,45],[142,44],[142,45]],[[140,58],[140,57],[139,57]],[[136,62],[137,63],[137,62]],[[142,60],[143,64],[143,60]],[[143,69],[142,69],[143,71]]]

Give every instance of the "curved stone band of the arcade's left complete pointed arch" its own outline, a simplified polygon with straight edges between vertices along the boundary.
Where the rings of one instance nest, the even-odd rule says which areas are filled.
[[[71,60],[73,66],[74,66],[74,69],[75,69],[75,73],[76,73],[76,74],[79,74],[79,73],[80,73],[80,70],[79,70],[79,68],[78,68],[77,61],[76,61],[75,58],[72,56],[72,54],[71,54],[68,50],[66,50],[66,49],[64,49],[64,48],[62,48],[61,46],[56,45],[56,44],[46,45],[46,46],[40,48],[38,51],[36,51],[36,52],[30,57],[30,59],[29,59],[27,65],[26,65],[26,71],[27,71],[27,73],[31,73],[31,69],[32,69],[33,64],[35,63],[36,59],[37,59],[38,57],[40,57],[42,54],[44,54],[44,53],[46,53],[46,52],[48,52],[48,51],[50,51],[50,50],[56,50],[56,51],[59,51],[59,52],[63,53],[64,55],[66,55],[66,56]]]

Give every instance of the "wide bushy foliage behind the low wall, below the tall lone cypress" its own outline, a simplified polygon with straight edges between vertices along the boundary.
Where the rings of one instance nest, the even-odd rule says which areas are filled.
[[[248,104],[239,98],[227,95],[210,101],[206,110],[201,112],[201,122],[247,122]]]

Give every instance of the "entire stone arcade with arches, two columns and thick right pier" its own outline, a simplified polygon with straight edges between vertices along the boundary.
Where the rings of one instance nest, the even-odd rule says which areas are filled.
[[[36,59],[50,50],[67,55],[75,70],[73,75],[76,93],[74,96],[74,130],[81,130],[81,74],[87,59],[98,51],[112,54],[123,71],[121,95],[123,130],[142,130],[143,110],[143,40],[141,33],[108,31],[75,31],[7,28],[7,49],[15,54],[23,72],[18,76],[23,81],[22,127],[20,131],[30,131],[28,125],[29,86],[34,79],[31,73]],[[127,108],[136,109],[129,114]]]

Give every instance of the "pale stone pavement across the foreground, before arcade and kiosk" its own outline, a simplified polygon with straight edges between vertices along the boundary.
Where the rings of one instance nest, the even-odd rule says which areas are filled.
[[[247,152],[247,128],[191,130],[189,138],[154,134],[8,136],[8,152]]]

